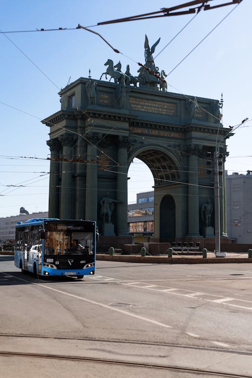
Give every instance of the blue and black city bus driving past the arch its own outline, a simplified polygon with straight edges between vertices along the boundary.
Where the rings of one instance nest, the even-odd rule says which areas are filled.
[[[38,278],[95,273],[96,222],[29,219],[16,225],[15,266]]]

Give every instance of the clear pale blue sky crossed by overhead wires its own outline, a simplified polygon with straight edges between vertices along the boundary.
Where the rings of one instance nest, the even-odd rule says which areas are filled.
[[[91,26],[114,18],[158,11],[182,2],[12,0],[2,3],[0,29]],[[225,2],[227,0],[213,1],[215,4]],[[234,7],[200,12],[160,53],[155,64],[160,70],[170,72]],[[171,92],[215,99],[219,99],[223,92],[225,127],[237,125],[246,117],[252,118],[251,14],[251,0],[243,0],[167,78]],[[137,75],[135,62],[144,63],[145,33],[150,44],[161,37],[155,56],[192,17],[166,17],[92,29],[101,33],[124,55],[116,54],[101,38],[84,30],[0,34],[0,217],[18,214],[21,206],[29,212],[48,209],[49,175],[46,173],[49,172],[49,161],[45,159],[49,156],[46,145],[49,129],[40,120],[60,109],[57,92],[67,85],[70,77],[71,82],[87,77],[90,68],[92,78],[99,79],[107,59],[120,60],[123,70],[130,64],[131,72]],[[230,157],[227,158],[226,169],[229,174],[252,170],[252,158],[247,157],[251,154],[251,126],[252,121],[247,122],[227,142]],[[137,192],[151,190],[153,181],[143,164],[133,163],[129,176],[129,201],[136,199]]]

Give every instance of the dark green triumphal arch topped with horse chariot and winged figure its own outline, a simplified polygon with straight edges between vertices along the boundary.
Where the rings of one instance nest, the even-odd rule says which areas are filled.
[[[103,235],[127,235],[128,170],[138,157],[154,177],[155,238],[214,237],[211,153],[220,148],[225,172],[230,130],[219,100],[167,90],[153,59],[158,42],[150,47],[145,38],[137,76],[108,59],[99,80],[81,77],[59,92],[61,109],[42,121],[50,128],[49,217],[96,220]],[[225,175],[219,178],[226,236]]]

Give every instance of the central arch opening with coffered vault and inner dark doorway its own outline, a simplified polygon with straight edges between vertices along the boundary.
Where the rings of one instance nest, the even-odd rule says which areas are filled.
[[[137,153],[134,158],[134,164],[136,164],[134,171],[131,165],[128,173],[132,184],[136,184],[133,189],[131,180],[128,182],[128,223],[130,233],[144,233],[147,230],[150,232],[151,228],[148,222],[152,221],[153,232],[151,236],[156,235],[160,239],[174,240],[176,234],[175,200],[169,194],[169,187],[182,180],[181,171],[179,171],[177,163],[164,151],[153,148]],[[140,170],[141,172],[139,172]],[[138,190],[136,191],[136,189]],[[135,209],[132,203],[134,191],[137,199],[137,202],[136,200],[134,202]],[[150,196],[148,192],[152,191],[153,194]],[[158,196],[155,195],[156,192],[158,192]],[[150,198],[152,204],[150,203]],[[154,225],[156,230],[154,230]]]

